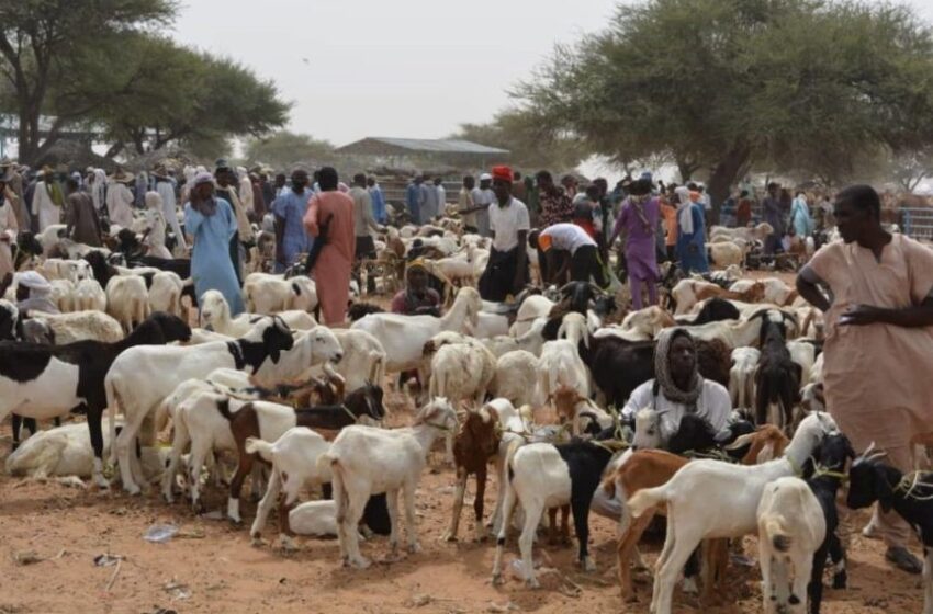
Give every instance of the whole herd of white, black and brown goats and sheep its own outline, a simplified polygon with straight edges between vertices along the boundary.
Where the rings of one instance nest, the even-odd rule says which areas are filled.
[[[754,238],[743,231],[755,230],[712,229],[719,243],[734,239],[738,250],[720,248],[729,253]],[[400,494],[406,546],[418,550],[415,493],[442,440],[456,467],[446,536],[458,536],[474,475],[474,530],[497,538],[494,582],[515,525],[527,583],[538,585],[531,550],[546,510],[552,531],[554,512],[563,512],[564,527],[570,512],[580,564],[593,569],[588,515],[599,491],[619,510],[628,600],[632,568],[643,565],[639,538],[653,515],[666,515],[657,614],[671,612],[682,576],[684,590],[699,580],[704,595],[713,594],[727,577],[728,541],[746,534],[758,535],[765,611],[802,612],[809,603],[819,612],[828,561],[833,585],[846,582],[836,536],[845,486],[850,508],[880,501],[919,531],[928,553],[923,612],[933,614],[930,475],[901,475],[870,450],[856,455],[839,432],[823,407],[822,314],[794,288],[777,277],[744,278],[740,258],[706,278],[665,276],[665,307],[628,312],[621,294],[584,282],[491,304],[474,289],[487,242],[453,220],[389,228],[362,274],[392,292],[405,259],[417,254],[443,284],[448,308],[439,318],[404,316],[355,295],[352,323],[331,330],[313,317],[314,282],[262,272],[261,252],[244,282],[248,312],[232,317],[220,293],[193,296],[187,261],[140,260],[47,232],[42,255],[26,266],[49,282],[61,312],[18,309],[15,281],[0,299],[0,420],[13,416],[18,446],[7,470],[91,477],[108,488],[115,462],[127,493],[159,480],[166,500],[181,489],[201,510],[202,490],[220,486],[233,458],[227,515],[241,522],[249,477],[261,496],[254,539],[278,503],[283,547],[294,547],[296,533],[336,535],[342,562],[362,568],[361,534],[387,534],[396,549]],[[200,328],[189,326],[192,309]],[[724,431],[687,413],[665,437],[651,407],[620,418],[632,390],[654,377],[654,339],[671,327],[692,333],[700,374],[728,388],[734,411]],[[383,387],[413,372],[417,388],[400,384],[419,407],[412,425],[382,428]],[[72,412],[85,413],[87,425],[21,442],[22,425],[35,430],[35,421]],[[156,445],[159,433],[170,433],[170,448]],[[490,466],[498,487],[484,519]],[[299,503],[321,490],[324,497]]]

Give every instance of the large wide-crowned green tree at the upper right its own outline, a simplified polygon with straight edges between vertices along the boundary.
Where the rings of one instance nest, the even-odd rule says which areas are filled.
[[[710,169],[718,207],[755,161],[844,168],[933,143],[933,39],[887,3],[647,0],[559,47],[516,95],[589,151]]]

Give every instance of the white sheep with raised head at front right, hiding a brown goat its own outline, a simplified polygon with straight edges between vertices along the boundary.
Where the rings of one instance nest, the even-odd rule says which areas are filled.
[[[639,491],[629,500],[633,518],[667,504],[667,538],[657,560],[652,612],[671,614],[671,596],[679,570],[704,538],[740,537],[757,527],[762,491],[771,481],[800,473],[822,439],[838,432],[828,414],[800,423],[782,458],[753,467],[720,461],[694,461],[663,486]],[[709,505],[716,501],[716,505]]]

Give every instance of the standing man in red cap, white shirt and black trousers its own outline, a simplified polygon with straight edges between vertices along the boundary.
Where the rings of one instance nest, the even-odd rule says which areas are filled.
[[[502,302],[516,295],[528,283],[528,207],[512,195],[512,169],[493,168],[493,192],[490,205],[490,232],[493,248],[483,276],[480,295],[486,300]]]

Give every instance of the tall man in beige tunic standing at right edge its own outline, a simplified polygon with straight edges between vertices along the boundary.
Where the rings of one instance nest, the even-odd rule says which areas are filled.
[[[856,450],[875,442],[907,471],[911,436],[933,430],[933,250],[881,228],[870,186],[840,192],[833,214],[842,241],[797,277],[800,296],[825,312],[827,407]],[[864,533],[885,541],[898,568],[920,573],[906,547],[910,527],[893,511],[876,508]]]

